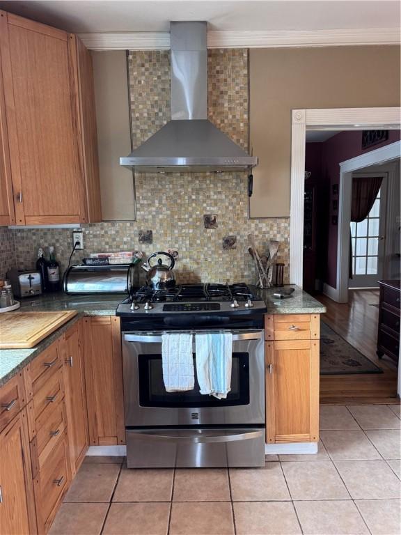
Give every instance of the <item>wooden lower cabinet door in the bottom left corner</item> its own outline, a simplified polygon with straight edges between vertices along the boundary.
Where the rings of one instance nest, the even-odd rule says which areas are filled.
[[[26,410],[0,434],[0,533],[36,534]]]

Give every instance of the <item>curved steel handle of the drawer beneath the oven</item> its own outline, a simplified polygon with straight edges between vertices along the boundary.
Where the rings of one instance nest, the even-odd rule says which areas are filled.
[[[136,440],[150,440],[153,442],[172,442],[174,444],[207,444],[210,442],[239,442],[239,440],[253,440],[264,435],[265,430],[242,431],[241,433],[194,434],[194,431],[135,431]]]

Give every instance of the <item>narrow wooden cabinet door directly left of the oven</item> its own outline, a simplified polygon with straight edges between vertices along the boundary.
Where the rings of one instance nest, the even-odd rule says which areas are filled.
[[[84,362],[89,442],[125,444],[120,318],[84,318]]]

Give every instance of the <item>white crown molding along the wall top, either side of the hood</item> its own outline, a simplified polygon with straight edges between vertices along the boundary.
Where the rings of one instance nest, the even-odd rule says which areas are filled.
[[[170,48],[168,32],[80,33],[91,50],[162,50]],[[209,31],[208,48],[336,47],[346,45],[399,45],[400,30],[370,28],[347,30]]]

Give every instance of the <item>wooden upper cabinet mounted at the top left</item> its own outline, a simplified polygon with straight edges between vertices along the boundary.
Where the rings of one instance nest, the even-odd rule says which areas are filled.
[[[16,223],[100,221],[90,54],[77,36],[6,12],[0,50]]]

